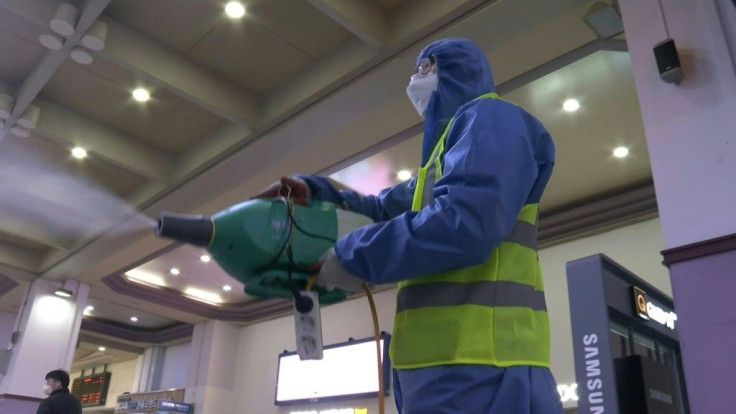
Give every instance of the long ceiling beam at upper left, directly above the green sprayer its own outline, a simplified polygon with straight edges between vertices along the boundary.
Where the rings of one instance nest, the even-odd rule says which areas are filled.
[[[97,53],[100,58],[230,122],[249,129],[260,122],[258,99],[252,93],[116,20],[102,20],[108,32],[105,49]]]

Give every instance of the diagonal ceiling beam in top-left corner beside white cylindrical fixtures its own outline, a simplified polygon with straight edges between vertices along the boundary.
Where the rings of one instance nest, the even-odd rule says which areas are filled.
[[[105,10],[105,7],[110,4],[110,1],[111,0],[97,0],[84,2],[74,33],[66,38],[61,49],[46,50],[41,61],[23,81],[23,84],[15,96],[15,105],[13,106],[10,119],[5,121],[5,125],[3,127],[0,127],[0,139],[7,135],[10,128],[23,115],[26,109],[28,109],[28,106],[31,105],[33,100],[36,99],[39,92],[41,92],[41,89],[46,86],[46,83],[48,83],[49,79],[54,75],[61,63],[69,56],[72,49],[79,44],[82,36],[87,33],[87,30],[89,30],[90,27],[92,27],[92,24],[98,17],[100,17],[102,12]],[[23,9],[24,3],[1,2],[0,6],[21,17],[34,16],[32,12]],[[33,7],[33,4],[25,4],[25,7]],[[39,22],[43,23],[43,20],[34,18],[33,22],[38,24]],[[46,28],[45,25],[44,28]]]

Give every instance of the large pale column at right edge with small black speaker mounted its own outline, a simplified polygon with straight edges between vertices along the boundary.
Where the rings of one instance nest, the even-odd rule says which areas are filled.
[[[736,5],[621,0],[621,7],[691,412],[730,412],[736,384]],[[652,51],[667,37],[684,71],[679,85],[660,80]]]

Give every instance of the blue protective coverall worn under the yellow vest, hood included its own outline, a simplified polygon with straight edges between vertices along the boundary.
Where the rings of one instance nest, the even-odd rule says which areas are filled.
[[[494,89],[480,48],[464,39],[444,39],[425,47],[417,62],[428,56],[436,61],[439,82],[425,112],[422,165],[454,118],[432,203],[411,211],[416,179],[365,196],[337,190],[321,177],[300,176],[313,198],[375,221],[335,244],[345,270],[374,284],[487,260],[522,206],[539,201],[554,164],[552,140],[532,115],[499,99],[474,100]],[[552,374],[542,367],[397,370],[394,392],[404,414],[562,412]]]

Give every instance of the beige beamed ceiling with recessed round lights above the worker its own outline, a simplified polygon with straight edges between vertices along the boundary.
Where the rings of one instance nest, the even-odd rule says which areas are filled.
[[[51,52],[37,41],[59,3],[0,3],[0,91],[41,108],[30,137],[0,135],[0,275],[18,283],[2,311],[15,312],[36,278],[76,278],[108,320],[129,324],[113,316],[129,309],[151,315],[150,327],[205,319],[102,282],[131,269],[228,306],[257,302],[200,250],[155,238],[151,218],[212,214],[293,172],[367,193],[391,185],[416,168],[421,119],[404,88],[436,38],[476,41],[503,98],[551,131],[543,213],[651,180],[628,54],[614,51],[625,43],[596,43],[582,21],[593,1],[251,0],[231,20],[220,1],[113,0],[80,19],[99,15],[109,28],[87,66],[66,58],[71,44]],[[137,87],[151,100],[135,102]],[[569,97],[579,111],[561,110]],[[76,145],[86,159],[70,157]],[[631,155],[613,158],[617,145]]]

